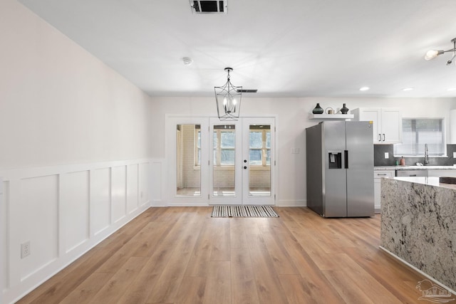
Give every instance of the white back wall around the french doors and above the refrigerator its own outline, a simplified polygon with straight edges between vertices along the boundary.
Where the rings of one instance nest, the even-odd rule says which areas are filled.
[[[247,95],[247,94],[246,94]],[[214,98],[152,98],[152,130],[162,130],[165,115],[214,116],[217,113]],[[355,108],[401,108],[403,117],[445,117],[450,130],[450,109],[456,108],[456,98],[242,98],[241,116],[276,115],[278,145],[279,185],[277,205],[306,205],[306,145],[305,129],[316,125],[309,114],[320,103],[322,108],[342,108],[343,103]],[[449,138],[450,132],[447,132]],[[157,134],[157,145],[152,155],[157,159],[172,162],[172,152],[165,152],[165,132]],[[299,148],[299,154],[292,154]],[[162,180],[167,180],[163,177]],[[166,186],[165,186],[166,188]],[[164,197],[166,201],[166,197]]]

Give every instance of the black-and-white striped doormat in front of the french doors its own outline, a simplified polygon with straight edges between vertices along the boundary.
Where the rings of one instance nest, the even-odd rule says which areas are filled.
[[[279,217],[271,206],[214,206],[212,217]]]

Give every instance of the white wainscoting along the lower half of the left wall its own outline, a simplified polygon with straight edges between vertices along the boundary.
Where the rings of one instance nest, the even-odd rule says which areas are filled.
[[[160,162],[160,161],[159,161]],[[0,303],[14,303],[150,206],[152,160],[0,170]],[[161,169],[161,167],[158,167]],[[0,178],[1,180],[1,178]],[[21,257],[29,243],[30,254]]]

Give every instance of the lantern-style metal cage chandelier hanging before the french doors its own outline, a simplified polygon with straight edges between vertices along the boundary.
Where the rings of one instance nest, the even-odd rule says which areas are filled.
[[[237,87],[229,81],[229,72],[232,68],[225,68],[228,73],[227,83],[221,87],[214,87],[215,102],[219,120],[238,120],[241,109],[242,86]]]

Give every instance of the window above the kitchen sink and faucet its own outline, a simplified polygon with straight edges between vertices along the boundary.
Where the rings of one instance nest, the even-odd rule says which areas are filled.
[[[423,157],[425,145],[430,156],[444,156],[445,123],[443,118],[403,118],[403,142],[394,145],[397,157]]]

